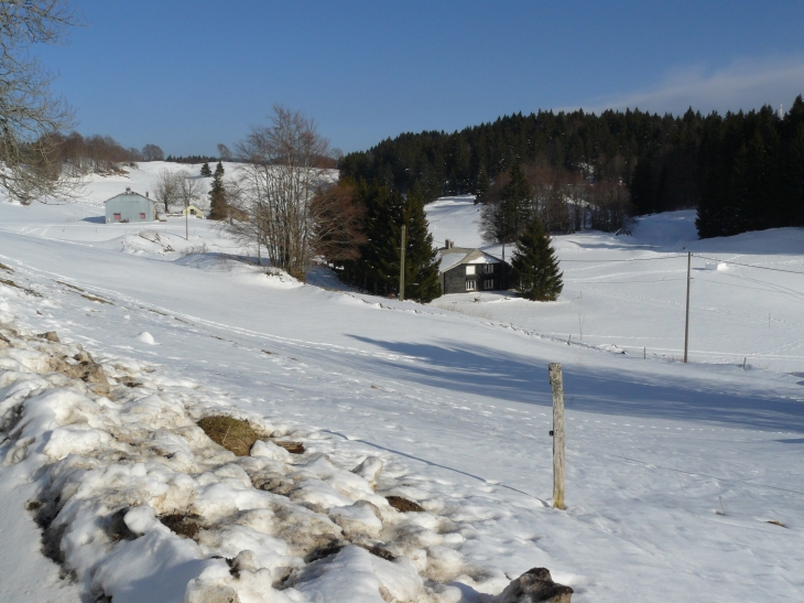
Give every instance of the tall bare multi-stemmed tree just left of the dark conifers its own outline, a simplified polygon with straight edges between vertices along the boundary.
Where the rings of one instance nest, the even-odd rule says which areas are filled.
[[[329,144],[298,111],[274,106],[271,121],[252,128],[238,143],[243,161],[237,172],[240,207],[251,223],[248,234],[268,250],[270,261],[303,278],[322,220],[313,198],[327,177],[322,162],[328,159]],[[238,234],[242,225],[230,227]]]

